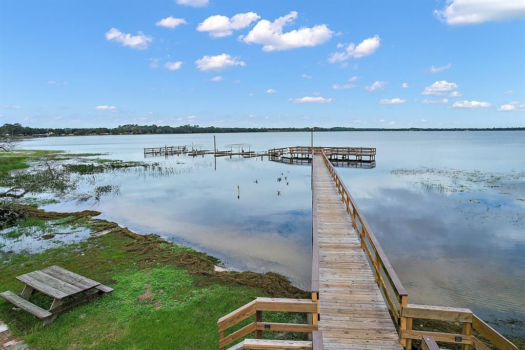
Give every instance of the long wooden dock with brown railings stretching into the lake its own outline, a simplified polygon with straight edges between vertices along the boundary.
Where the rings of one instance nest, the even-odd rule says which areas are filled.
[[[461,350],[517,350],[468,308],[408,304],[408,293],[332,164],[334,158],[342,159],[334,153],[355,148],[338,149],[343,151],[313,147],[307,155],[302,148],[295,153],[302,156],[294,156],[309,158],[312,164],[311,300],[257,298],[240,306],[217,322],[219,349],[253,333],[255,339],[228,350],[412,350],[413,340],[420,341],[423,350],[439,349],[436,342],[458,344]],[[274,149],[269,156],[298,151],[280,150],[281,155]],[[375,149],[369,155],[375,159]],[[308,324],[264,322],[263,312],[306,313]],[[251,323],[228,334],[250,317]],[[461,332],[413,330],[414,318],[460,323]],[[311,341],[262,339],[264,331],[309,333]]]

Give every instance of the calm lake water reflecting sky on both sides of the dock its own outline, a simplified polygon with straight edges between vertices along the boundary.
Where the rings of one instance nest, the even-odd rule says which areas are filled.
[[[311,143],[309,132],[216,137],[218,149],[242,142],[256,151]],[[338,171],[409,303],[469,307],[486,320],[525,321],[525,132],[318,132],[313,138],[316,146],[377,149],[375,168]],[[226,267],[281,273],[309,290],[310,167],[267,157],[143,157],[144,147],[192,144],[213,149],[213,135],[58,137],[24,141],[20,148],[161,162],[173,168],[171,176],[101,176],[121,191],[102,199],[101,217],[205,251]],[[498,328],[523,335],[523,326]]]

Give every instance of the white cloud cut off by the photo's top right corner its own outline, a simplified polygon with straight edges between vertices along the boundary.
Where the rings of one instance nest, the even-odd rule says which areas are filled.
[[[525,18],[525,2],[522,0],[453,0],[447,1],[444,9],[434,10],[434,15],[449,25],[503,22]]]

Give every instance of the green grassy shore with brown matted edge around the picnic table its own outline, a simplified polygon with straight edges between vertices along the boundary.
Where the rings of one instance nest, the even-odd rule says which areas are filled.
[[[26,209],[38,219],[74,217],[73,213]],[[2,291],[20,292],[17,275],[50,265],[115,289],[61,313],[49,326],[0,301],[0,319],[34,349],[214,349],[219,317],[257,296],[308,296],[277,274],[214,272],[217,260],[211,256],[156,236],[134,234],[112,222],[93,221],[93,214],[97,213],[77,214],[74,220],[93,233],[109,233],[36,254],[0,250]],[[40,293],[30,300],[41,306],[51,302]],[[265,321],[305,323],[306,317],[268,312]],[[271,333],[265,337],[282,337]]]

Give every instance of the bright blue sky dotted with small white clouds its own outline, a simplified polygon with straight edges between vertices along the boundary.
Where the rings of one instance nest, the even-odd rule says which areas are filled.
[[[523,127],[524,17],[521,0],[2,1],[0,124]]]

